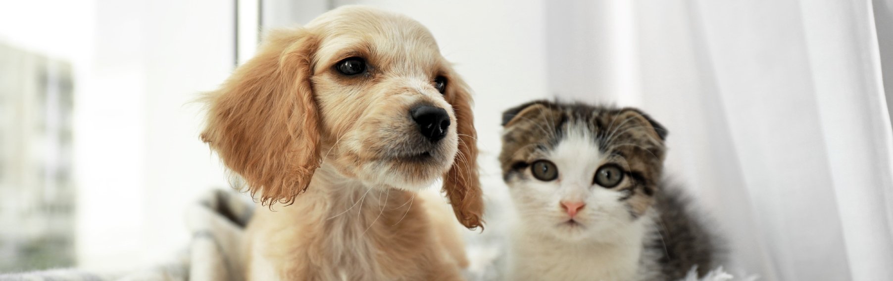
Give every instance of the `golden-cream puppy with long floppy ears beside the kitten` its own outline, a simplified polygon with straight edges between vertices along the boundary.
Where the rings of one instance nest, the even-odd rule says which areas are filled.
[[[417,21],[361,6],[275,30],[206,96],[202,139],[264,207],[249,280],[461,280],[482,227],[468,87]],[[278,204],[277,204],[278,203]]]

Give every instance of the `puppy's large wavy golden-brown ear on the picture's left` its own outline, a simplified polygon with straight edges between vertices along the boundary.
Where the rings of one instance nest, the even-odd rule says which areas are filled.
[[[294,202],[320,165],[320,121],[310,76],[317,38],[271,32],[250,61],[205,96],[202,140],[263,204]]]

